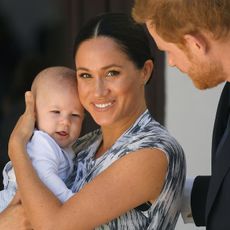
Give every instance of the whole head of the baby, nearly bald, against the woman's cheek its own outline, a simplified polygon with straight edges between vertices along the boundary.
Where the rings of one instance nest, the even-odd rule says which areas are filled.
[[[75,71],[50,67],[33,81],[37,128],[48,133],[61,147],[71,145],[79,136],[83,107],[77,92]]]

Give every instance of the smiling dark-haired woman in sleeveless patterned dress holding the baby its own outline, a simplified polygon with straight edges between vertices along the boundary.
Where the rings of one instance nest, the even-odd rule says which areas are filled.
[[[76,195],[61,204],[27,158],[34,125],[29,93],[10,138],[9,155],[33,229],[173,229],[185,160],[146,108],[153,62],[144,29],[124,14],[95,17],[76,39],[75,63],[81,103],[101,127],[75,145],[75,173],[67,184]],[[0,228],[9,218],[2,215]]]

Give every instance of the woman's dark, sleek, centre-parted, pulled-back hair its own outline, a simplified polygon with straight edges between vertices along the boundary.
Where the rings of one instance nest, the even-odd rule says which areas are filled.
[[[152,59],[144,27],[123,13],[105,13],[88,21],[76,37],[74,55],[82,42],[99,36],[110,37],[117,42],[137,68],[142,68],[146,60]]]

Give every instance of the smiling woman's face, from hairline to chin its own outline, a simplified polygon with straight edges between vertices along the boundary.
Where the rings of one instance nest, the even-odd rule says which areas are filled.
[[[146,68],[138,69],[111,38],[84,41],[76,53],[81,103],[100,126],[131,124],[146,108]]]

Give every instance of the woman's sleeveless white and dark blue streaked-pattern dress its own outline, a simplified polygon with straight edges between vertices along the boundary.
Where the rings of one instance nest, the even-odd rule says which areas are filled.
[[[161,149],[168,159],[165,184],[158,199],[144,204],[104,224],[97,230],[171,230],[175,228],[185,180],[185,158],[181,146],[146,110],[104,155],[94,155],[102,141],[100,130],[80,138],[76,145],[75,170],[66,182],[78,192],[113,162],[142,148]],[[152,185],[154,186],[154,184]]]

